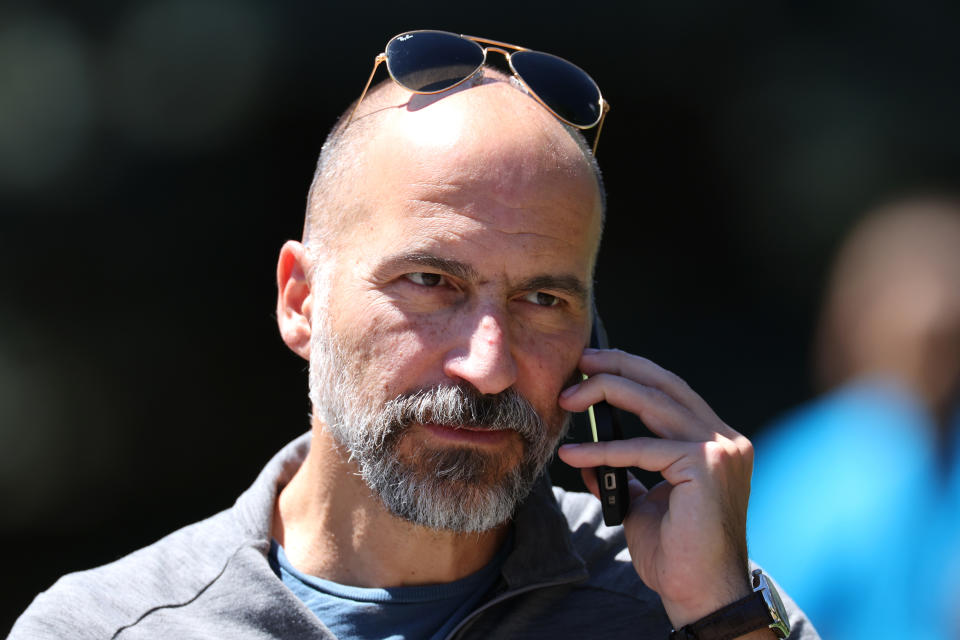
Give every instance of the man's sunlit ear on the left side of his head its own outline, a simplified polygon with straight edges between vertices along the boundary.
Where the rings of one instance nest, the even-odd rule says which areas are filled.
[[[280,337],[295,354],[310,359],[311,311],[309,256],[306,248],[288,240],[277,261],[277,326]]]

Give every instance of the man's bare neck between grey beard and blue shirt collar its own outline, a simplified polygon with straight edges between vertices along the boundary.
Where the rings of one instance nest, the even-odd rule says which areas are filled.
[[[273,537],[298,570],[341,584],[452,582],[487,564],[508,524],[482,533],[428,529],[392,515],[322,424],[274,507]]]

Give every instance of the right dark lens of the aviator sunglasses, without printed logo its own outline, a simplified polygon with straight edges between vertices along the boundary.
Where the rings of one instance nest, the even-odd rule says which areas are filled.
[[[558,116],[577,127],[600,120],[600,89],[580,67],[539,51],[518,51],[513,70]]]

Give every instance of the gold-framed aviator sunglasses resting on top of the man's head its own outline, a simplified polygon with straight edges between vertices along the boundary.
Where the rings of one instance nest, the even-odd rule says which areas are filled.
[[[482,44],[491,45],[487,47]],[[512,51],[507,51],[511,49]],[[593,78],[563,58],[513,44],[447,31],[408,31],[394,36],[374,60],[373,71],[347,124],[367,95],[373,75],[386,61],[393,81],[413,93],[440,93],[469,80],[486,63],[487,52],[503,54],[514,77],[547,110],[578,129],[597,127],[593,153],[610,105]]]

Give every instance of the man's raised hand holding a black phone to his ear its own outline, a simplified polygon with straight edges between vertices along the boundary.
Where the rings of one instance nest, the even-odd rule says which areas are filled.
[[[605,346],[599,327],[594,346]],[[680,377],[646,358],[601,348],[583,354],[580,366],[591,377],[560,394],[562,408],[586,411],[593,404],[597,440],[603,440],[605,419],[598,407],[610,397],[618,409],[642,418],[651,435],[602,446],[564,445],[558,455],[572,467],[596,470],[605,521],[618,519],[614,510],[622,513],[629,496],[623,532],[634,569],[660,595],[674,627],[749,595],[750,441]],[[608,424],[615,437],[612,416]],[[614,487],[626,486],[616,476],[618,467],[659,472],[663,480],[647,489],[624,474],[621,478],[630,478],[629,491],[617,494]],[[608,469],[612,477],[604,475]]]

